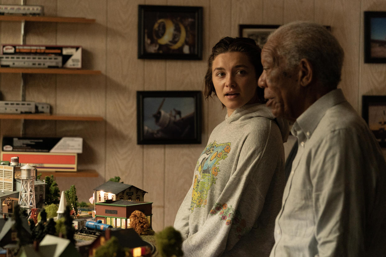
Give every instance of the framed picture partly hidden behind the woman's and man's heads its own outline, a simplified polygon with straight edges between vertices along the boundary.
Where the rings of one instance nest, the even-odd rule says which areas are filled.
[[[249,37],[256,41],[260,48],[267,42],[268,35],[280,25],[239,24],[239,37]]]

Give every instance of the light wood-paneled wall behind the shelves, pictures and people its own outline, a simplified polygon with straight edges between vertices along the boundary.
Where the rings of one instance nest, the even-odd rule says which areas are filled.
[[[20,0],[1,0],[16,3]],[[46,15],[95,18],[95,24],[27,22],[27,44],[83,46],[83,67],[102,75],[25,76],[26,100],[48,102],[56,114],[92,114],[103,122],[0,121],[1,135],[81,136],[80,169],[98,178],[56,178],[61,190],[75,185],[87,201],[93,188],[113,176],[149,193],[153,228],[173,225],[191,185],[193,169],[212,129],[225,111],[216,99],[203,101],[202,144],[137,145],[137,90],[203,90],[207,56],[224,36],[238,36],[239,24],[284,24],[312,20],[330,25],[345,50],[340,87],[361,110],[362,94],[386,94],[386,65],[363,62],[363,12],[386,10],[383,0],[27,0],[44,5]],[[139,4],[202,6],[203,60],[137,59]],[[2,43],[20,43],[20,22],[1,22]],[[1,74],[3,100],[20,100],[20,74]]]

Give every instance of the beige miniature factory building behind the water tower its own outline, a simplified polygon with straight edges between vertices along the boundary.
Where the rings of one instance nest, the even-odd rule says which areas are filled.
[[[14,204],[19,202],[22,186],[22,166],[0,165],[0,212],[12,213]],[[34,166],[36,168],[36,166]],[[36,169],[35,169],[36,177]],[[41,208],[45,198],[46,183],[41,180],[34,181],[36,208]]]

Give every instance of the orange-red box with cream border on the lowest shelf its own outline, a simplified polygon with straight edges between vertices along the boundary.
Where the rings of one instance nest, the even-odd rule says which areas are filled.
[[[37,171],[77,171],[77,153],[1,152],[2,160],[19,157],[20,165],[36,165]]]

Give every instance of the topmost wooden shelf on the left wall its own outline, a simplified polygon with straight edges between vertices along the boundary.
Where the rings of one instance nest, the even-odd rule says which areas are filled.
[[[54,16],[27,16],[27,15],[0,15],[0,20],[17,22],[70,22],[70,23],[94,23],[95,19],[77,17],[54,17]]]

